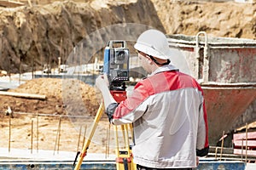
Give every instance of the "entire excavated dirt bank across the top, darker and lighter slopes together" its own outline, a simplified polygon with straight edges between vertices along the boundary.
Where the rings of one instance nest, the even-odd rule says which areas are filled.
[[[49,2],[54,1],[32,7],[0,8],[0,70],[16,73],[38,70],[44,64],[57,65],[60,56],[65,62],[84,37],[105,26],[121,23],[153,26],[167,34],[195,35],[198,31],[207,31],[216,37],[256,37],[256,6],[252,3]],[[108,39],[108,34],[99,35],[98,41],[102,37]],[[92,46],[91,51],[97,53],[96,47]]]

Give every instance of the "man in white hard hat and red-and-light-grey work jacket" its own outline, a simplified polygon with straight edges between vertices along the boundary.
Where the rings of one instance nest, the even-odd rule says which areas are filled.
[[[105,110],[115,125],[133,122],[137,169],[192,169],[196,156],[207,156],[207,112],[200,85],[170,65],[166,36],[144,31],[134,48],[150,75],[137,82],[119,105],[108,90],[108,78],[98,77]]]

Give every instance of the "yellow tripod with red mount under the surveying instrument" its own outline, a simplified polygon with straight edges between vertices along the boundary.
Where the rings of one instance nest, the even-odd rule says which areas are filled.
[[[120,103],[121,101],[126,99],[126,91],[125,90],[110,90],[110,93],[113,95],[113,99],[115,99],[118,103]],[[86,156],[87,150],[90,145],[90,141],[96,131],[97,124],[102,117],[103,111],[104,111],[104,105],[102,103],[96,113],[96,117],[94,119],[92,128],[90,129],[89,138],[85,140],[82,152],[81,153],[78,152],[78,154],[75,158],[75,161],[76,161],[80,154],[78,163],[74,168],[75,170],[79,170],[82,165],[84,156]],[[124,143],[125,143],[125,149],[122,149],[122,150],[119,149],[119,138],[118,138],[119,127],[122,131]],[[136,170],[137,166],[133,162],[133,159],[132,159],[131,146],[129,143],[129,133],[128,133],[128,131],[130,129],[131,138],[133,139],[132,124],[125,124],[125,125],[119,125],[119,126],[113,125],[113,129],[114,129],[114,133],[115,133],[115,143],[116,143],[115,155],[116,155],[117,170]],[[75,161],[74,161],[73,166],[75,165]]]

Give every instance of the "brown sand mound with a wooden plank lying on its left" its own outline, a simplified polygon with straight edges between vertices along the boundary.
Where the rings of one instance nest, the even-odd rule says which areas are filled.
[[[65,85],[63,85],[65,83]],[[79,80],[56,78],[32,79],[10,92],[44,94],[46,100],[1,97],[0,109],[9,105],[13,111],[45,114],[94,116],[99,107],[95,88]],[[68,111],[68,112],[67,112]]]

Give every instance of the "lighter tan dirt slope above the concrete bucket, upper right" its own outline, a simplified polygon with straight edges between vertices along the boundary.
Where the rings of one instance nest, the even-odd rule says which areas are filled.
[[[206,31],[214,37],[256,37],[255,3],[152,2],[168,34],[195,36],[198,31]]]

